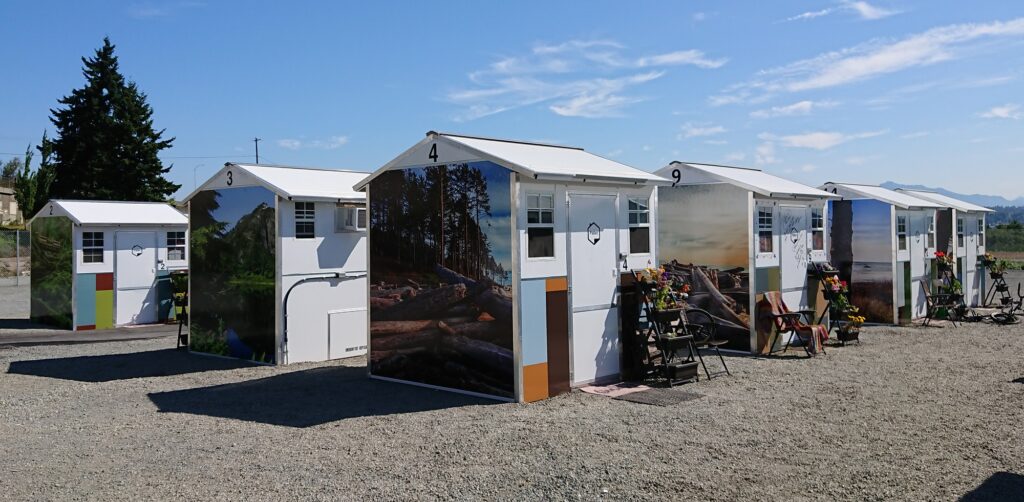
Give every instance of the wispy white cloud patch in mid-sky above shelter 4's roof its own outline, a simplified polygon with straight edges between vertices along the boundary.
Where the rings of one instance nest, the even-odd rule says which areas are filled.
[[[665,76],[671,67],[716,69],[725,64],[725,58],[695,49],[636,56],[612,40],[569,40],[499,58],[470,73],[472,85],[452,90],[445,98],[461,108],[457,121],[536,104],[564,117],[615,117],[648,99],[634,89]]]

